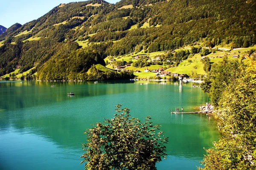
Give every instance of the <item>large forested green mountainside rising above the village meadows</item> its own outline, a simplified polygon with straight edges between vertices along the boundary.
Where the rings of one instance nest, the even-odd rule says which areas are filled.
[[[249,47],[256,44],[255,8],[253,0],[60,4],[0,35],[5,41],[0,47],[0,76],[33,68],[41,80],[87,79],[88,69],[105,65],[107,56],[172,51],[198,43]],[[184,55],[169,59],[177,65],[175,60],[186,59]]]

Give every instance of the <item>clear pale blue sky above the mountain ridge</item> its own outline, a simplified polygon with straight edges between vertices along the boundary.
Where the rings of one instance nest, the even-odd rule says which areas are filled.
[[[61,3],[87,0],[1,0],[0,25],[9,28],[15,23],[21,25],[36,20]],[[116,3],[120,0],[105,0]]]

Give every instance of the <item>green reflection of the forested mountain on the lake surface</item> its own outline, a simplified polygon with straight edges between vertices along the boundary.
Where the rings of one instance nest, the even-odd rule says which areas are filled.
[[[55,88],[50,87],[53,84],[56,85]],[[76,93],[72,98],[67,97],[70,91]],[[200,89],[189,85],[182,87],[180,95],[179,85],[173,85],[173,82],[144,85],[0,82],[0,108],[6,108],[0,112],[0,132],[12,135],[14,129],[20,135],[34,134],[54,144],[58,148],[56,152],[63,152],[61,154],[69,157],[70,153],[66,153],[66,150],[81,150],[80,144],[86,142],[84,130],[92,127],[91,124],[104,121],[104,118],[113,118],[114,105],[120,103],[131,109],[132,117],[143,120],[145,116],[151,115],[154,124],[162,125],[161,130],[169,136],[169,156],[189,161],[201,160],[205,153],[203,147],[210,147],[218,139],[215,123],[206,119],[205,115],[170,114],[170,108],[183,106],[184,109],[189,109],[192,105],[200,105],[202,101],[208,100]],[[0,133],[0,139],[2,134]],[[18,140],[20,139],[17,138]],[[27,140],[28,143],[33,143],[32,139]],[[5,146],[0,146],[0,149],[2,147]],[[34,150],[33,147],[34,145],[30,149]],[[78,154],[78,159],[79,156],[81,155]],[[168,165],[170,164],[169,162]]]

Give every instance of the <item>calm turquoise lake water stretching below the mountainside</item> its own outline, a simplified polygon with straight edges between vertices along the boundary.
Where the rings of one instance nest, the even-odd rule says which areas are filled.
[[[67,96],[70,91],[75,96]],[[1,81],[0,169],[83,170],[84,130],[111,119],[115,105],[123,104],[132,117],[150,115],[169,137],[168,156],[158,170],[196,170],[203,147],[219,137],[216,123],[204,114],[170,112],[197,111],[206,102],[207,94],[190,83]]]

